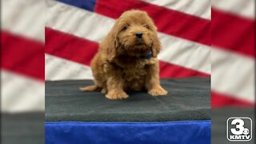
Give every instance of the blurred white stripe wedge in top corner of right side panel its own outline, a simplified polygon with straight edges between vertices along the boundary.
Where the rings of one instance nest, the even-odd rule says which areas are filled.
[[[255,1],[254,0],[214,0],[212,6],[218,10],[237,14],[246,18],[255,17]]]

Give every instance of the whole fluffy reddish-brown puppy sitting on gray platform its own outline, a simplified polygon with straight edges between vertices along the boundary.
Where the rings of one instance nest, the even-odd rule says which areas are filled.
[[[102,90],[109,99],[128,98],[127,90],[146,89],[153,96],[167,94],[159,82],[157,55],[161,44],[146,12],[123,13],[99,47],[91,62],[95,85],[80,90]]]

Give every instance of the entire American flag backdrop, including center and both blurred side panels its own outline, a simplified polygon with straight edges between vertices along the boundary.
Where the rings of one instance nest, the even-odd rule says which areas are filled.
[[[2,113],[44,110],[44,81],[92,79],[90,61],[123,11],[145,10],[161,78],[211,77],[213,108],[255,105],[254,0],[2,0]]]

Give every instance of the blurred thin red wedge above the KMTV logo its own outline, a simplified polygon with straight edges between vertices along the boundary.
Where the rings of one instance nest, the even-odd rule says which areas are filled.
[[[222,106],[255,106],[253,102],[246,102],[241,99],[234,98],[228,94],[219,94],[215,91],[211,92],[211,106],[213,108]]]

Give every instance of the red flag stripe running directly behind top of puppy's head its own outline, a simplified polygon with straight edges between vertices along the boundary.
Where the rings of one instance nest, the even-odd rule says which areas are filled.
[[[166,9],[147,2],[126,0],[98,0],[94,11],[110,18],[118,18],[130,9],[145,10],[154,19],[158,31],[200,42],[210,46],[210,21],[176,10]]]

